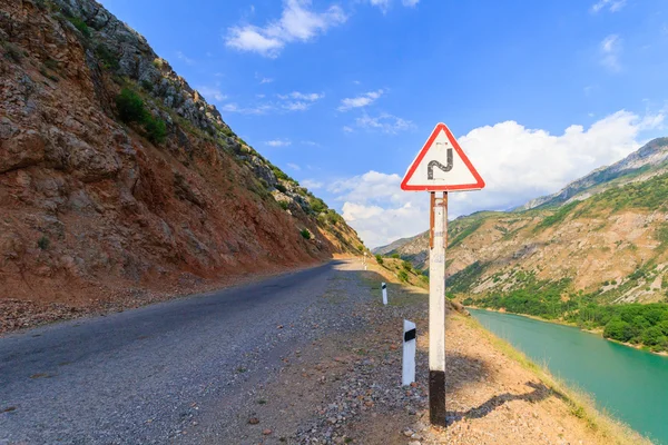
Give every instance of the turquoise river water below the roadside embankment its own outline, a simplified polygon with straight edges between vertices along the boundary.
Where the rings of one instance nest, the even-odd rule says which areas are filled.
[[[470,309],[489,330],[589,393],[599,407],[668,445],[668,357],[607,342],[570,326]]]

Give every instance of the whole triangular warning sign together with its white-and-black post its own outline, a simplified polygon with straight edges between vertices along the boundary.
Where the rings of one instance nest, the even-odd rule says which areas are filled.
[[[432,425],[446,426],[445,246],[448,245],[448,192],[482,188],[484,188],[484,180],[445,123],[436,125],[401,181],[402,190],[430,192],[429,417]]]

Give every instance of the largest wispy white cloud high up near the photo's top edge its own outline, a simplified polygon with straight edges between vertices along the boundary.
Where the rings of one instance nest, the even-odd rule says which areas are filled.
[[[285,44],[310,41],[327,29],[346,21],[343,9],[336,4],[323,12],[311,10],[311,0],[285,0],[281,19],[265,27],[240,24],[227,30],[225,44],[239,51],[257,52],[276,58]]]

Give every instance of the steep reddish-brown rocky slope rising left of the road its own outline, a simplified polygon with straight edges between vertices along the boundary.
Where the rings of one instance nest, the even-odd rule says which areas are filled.
[[[0,304],[140,300],[362,246],[94,0],[0,0]]]

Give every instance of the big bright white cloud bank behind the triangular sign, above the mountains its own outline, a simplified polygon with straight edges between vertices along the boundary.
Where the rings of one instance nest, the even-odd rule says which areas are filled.
[[[637,150],[642,131],[662,128],[662,113],[640,117],[625,110],[589,128],[561,135],[529,129],[515,121],[471,130],[458,140],[487,182],[482,191],[451,195],[450,216],[503,210],[560,190],[569,181]],[[406,150],[406,167],[418,149]],[[416,235],[429,226],[428,194],[400,189],[401,176],[369,171],[333,182],[328,191],[343,202],[343,217],[367,246]]]

